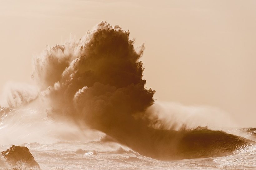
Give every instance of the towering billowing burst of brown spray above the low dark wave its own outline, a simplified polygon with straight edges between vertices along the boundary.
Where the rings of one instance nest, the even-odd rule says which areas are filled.
[[[84,120],[96,129],[129,122],[153,104],[145,89],[141,57],[129,31],[100,23],[77,42],[47,48],[35,59],[33,77],[48,94],[55,114]],[[101,126],[101,127],[100,127]]]

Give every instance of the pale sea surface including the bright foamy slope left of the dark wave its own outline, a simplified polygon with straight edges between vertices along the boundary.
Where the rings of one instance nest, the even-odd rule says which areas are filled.
[[[23,114],[24,111],[27,114]],[[66,125],[55,124],[29,109],[2,114],[0,151],[13,144],[26,146],[41,169],[256,169],[254,144],[240,147],[223,157],[160,161],[138,154],[102,132],[86,131],[83,134],[72,126],[64,129]],[[222,127],[218,130],[256,141],[256,128]],[[50,138],[48,134],[53,135]],[[37,142],[23,143],[27,140]],[[12,167],[1,158],[0,169],[5,168]]]

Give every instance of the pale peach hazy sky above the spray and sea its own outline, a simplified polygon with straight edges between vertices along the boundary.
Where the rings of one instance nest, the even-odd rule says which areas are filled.
[[[220,108],[256,126],[256,1],[0,1],[0,89],[31,82],[46,44],[107,21],[130,30],[155,99]]]

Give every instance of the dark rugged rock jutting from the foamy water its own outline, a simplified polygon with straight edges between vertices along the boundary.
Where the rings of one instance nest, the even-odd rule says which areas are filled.
[[[40,169],[29,149],[25,146],[12,145],[11,148],[1,152],[6,162],[14,168]]]

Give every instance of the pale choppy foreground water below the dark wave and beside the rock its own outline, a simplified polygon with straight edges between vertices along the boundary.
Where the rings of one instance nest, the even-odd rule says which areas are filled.
[[[0,150],[10,146],[1,145]],[[256,145],[224,157],[177,161],[148,158],[114,141],[24,143],[22,146],[30,149],[42,169],[256,169]]]

